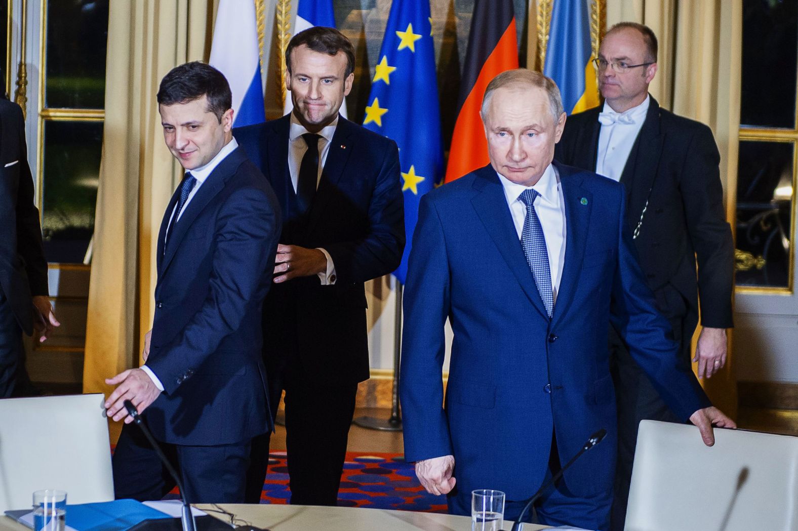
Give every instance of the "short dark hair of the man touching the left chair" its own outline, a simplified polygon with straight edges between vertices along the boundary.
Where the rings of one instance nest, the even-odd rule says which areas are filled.
[[[203,62],[192,61],[176,66],[160,80],[158,104],[174,105],[207,96],[207,111],[222,123],[222,116],[233,106],[233,95],[227,78],[219,70]]]

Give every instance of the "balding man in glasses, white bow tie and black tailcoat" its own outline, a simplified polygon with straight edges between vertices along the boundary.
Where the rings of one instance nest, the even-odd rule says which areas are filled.
[[[649,96],[657,72],[657,37],[648,27],[631,22],[613,26],[596,63],[603,107],[568,118],[555,157],[624,185],[626,223],[640,266],[685,362],[701,296],[703,328],[695,361],[698,376],[709,378],[726,360],[734,264],[712,132],[660,108]],[[681,419],[634,363],[617,329],[610,330],[610,352],[619,430],[613,527],[623,529],[638,424],[642,419]]]

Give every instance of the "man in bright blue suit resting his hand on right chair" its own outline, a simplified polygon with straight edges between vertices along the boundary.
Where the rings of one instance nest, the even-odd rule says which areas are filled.
[[[607,529],[616,422],[608,321],[666,403],[713,443],[711,407],[654,309],[622,185],[552,165],[565,113],[550,79],[497,76],[482,116],[491,164],[421,199],[405,286],[405,458],[468,514],[473,489],[520,501],[601,428],[606,442],[543,494],[546,525]],[[454,331],[444,404],[444,321]],[[508,502],[505,516],[523,506]]]

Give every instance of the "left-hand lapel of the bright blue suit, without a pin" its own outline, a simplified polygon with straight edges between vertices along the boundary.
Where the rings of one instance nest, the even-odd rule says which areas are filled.
[[[543,305],[543,300],[540,298],[537,285],[535,285],[535,277],[532,277],[527,258],[523,255],[518,232],[512,222],[512,214],[510,214],[507,199],[504,196],[504,188],[492,166],[477,170],[474,187],[477,194],[472,198],[471,203],[476,214],[480,217],[485,230],[490,234],[496,248],[521,285],[523,293],[526,293],[527,298],[539,313],[548,319],[546,307]]]

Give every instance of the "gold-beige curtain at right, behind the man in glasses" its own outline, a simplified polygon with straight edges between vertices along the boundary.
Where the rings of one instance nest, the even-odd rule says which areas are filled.
[[[663,107],[712,128],[721,151],[726,215],[734,226],[742,0],[606,0],[606,9],[607,27],[641,22],[657,34],[658,72],[650,90]],[[703,384],[713,403],[736,417],[732,348],[725,368]]]

